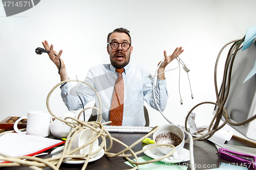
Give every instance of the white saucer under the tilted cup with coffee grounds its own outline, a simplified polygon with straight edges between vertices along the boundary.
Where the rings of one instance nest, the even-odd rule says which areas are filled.
[[[145,145],[142,149],[146,149],[152,145],[155,145],[155,144],[147,144]],[[144,154],[148,157],[151,157],[153,159],[157,159],[157,158],[160,158],[162,156],[164,156],[165,154],[163,154],[162,152],[160,152],[157,147],[155,148],[152,148],[150,150],[146,150],[144,152]],[[164,162],[164,163],[180,163],[180,162],[186,162],[188,160],[190,160],[190,156],[189,156],[189,151],[185,148],[183,148],[181,150],[181,152],[178,154],[179,156],[179,160],[174,160],[173,156],[169,156],[167,158],[164,158],[162,160],[160,160],[160,162]]]

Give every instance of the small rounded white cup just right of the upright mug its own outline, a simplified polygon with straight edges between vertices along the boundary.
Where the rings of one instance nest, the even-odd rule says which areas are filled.
[[[53,136],[56,138],[66,138],[72,130],[72,127],[68,125],[55,125],[50,124],[50,130]]]

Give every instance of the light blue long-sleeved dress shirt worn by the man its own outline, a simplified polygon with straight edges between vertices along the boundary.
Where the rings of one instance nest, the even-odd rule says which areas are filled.
[[[84,81],[90,83],[99,93],[102,103],[102,122],[110,120],[111,100],[118,72],[111,64],[101,64],[91,67]],[[145,126],[143,100],[157,110],[153,97],[153,78],[146,66],[137,63],[129,63],[122,73],[124,81],[124,106],[122,126]],[[156,99],[163,111],[167,105],[168,93],[166,81],[158,80],[155,88]],[[61,97],[69,110],[82,108],[83,105],[95,100],[99,101],[95,92],[86,84],[81,83],[72,87],[71,83],[61,87]],[[99,108],[99,107],[98,107]],[[98,112],[97,112],[98,113]]]

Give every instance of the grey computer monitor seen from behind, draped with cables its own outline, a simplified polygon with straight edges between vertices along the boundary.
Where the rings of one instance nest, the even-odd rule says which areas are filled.
[[[256,114],[256,75],[253,75],[249,80],[244,82],[253,69],[255,61],[256,38],[246,50],[242,51],[242,47],[240,47],[234,59],[230,90],[224,105],[231,122],[239,123]],[[223,84],[221,90],[223,90]],[[214,114],[217,108],[218,106],[215,107]],[[222,120],[224,120],[223,116]],[[256,140],[256,119],[243,126],[230,126],[244,136]]]

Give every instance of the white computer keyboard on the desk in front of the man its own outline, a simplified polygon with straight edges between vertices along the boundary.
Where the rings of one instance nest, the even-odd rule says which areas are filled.
[[[104,126],[109,132],[123,132],[123,133],[148,133],[152,130],[150,127],[144,126]]]

